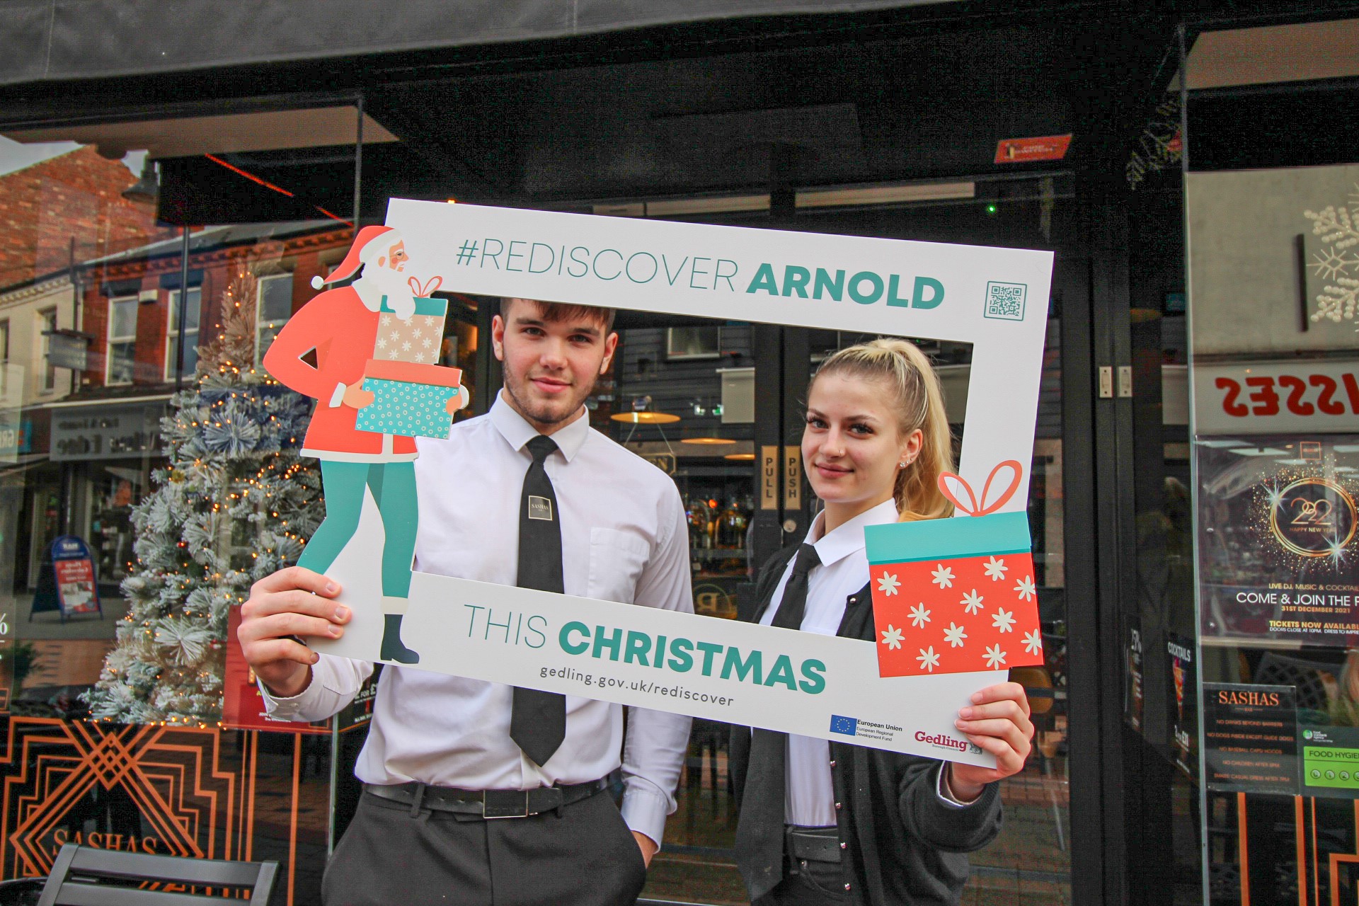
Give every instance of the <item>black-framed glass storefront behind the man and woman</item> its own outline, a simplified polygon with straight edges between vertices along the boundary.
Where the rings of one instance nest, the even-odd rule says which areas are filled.
[[[1307,634],[1303,619],[1326,618],[1288,617],[1277,596],[1320,609],[1341,604],[1317,595],[1354,594],[1359,312],[1344,281],[1359,273],[1344,217],[1359,221],[1347,200],[1359,177],[1343,164],[1355,136],[1318,118],[1260,156],[1239,151],[1254,147],[1242,111],[1351,96],[1359,72],[1343,53],[1324,54],[1340,60],[1329,69],[1288,56],[1354,46],[1345,23],[954,3],[656,7],[646,20],[625,4],[495,4],[453,22],[408,4],[321,46],[303,35],[370,16],[277,5],[220,46],[186,38],[183,22],[174,39],[149,16],[101,24],[113,15],[101,3],[0,22],[46,48],[3,64],[0,134],[83,145],[0,174],[18,212],[0,242],[0,875],[45,875],[77,841],[279,858],[273,902],[317,901],[357,799],[371,690],[332,725],[270,724],[230,607],[194,615],[144,577],[175,554],[149,539],[179,538],[185,512],[193,528],[170,547],[211,551],[194,562],[212,564],[215,600],[239,595],[265,554],[295,561],[315,492],[310,511],[250,501],[275,470],[315,489],[314,463],[288,431],[269,433],[294,402],[260,356],[355,224],[410,197],[1055,251],[1029,500],[1046,663],[1014,676],[1036,750],[1003,785],[1006,829],[973,858],[965,902],[1352,896],[1341,781],[1305,784],[1294,763],[1292,786],[1261,786],[1210,759],[1226,773],[1201,782],[1203,759],[1231,750],[1204,733],[1239,719],[1233,694],[1237,708],[1279,694],[1273,717],[1310,721],[1318,744],[1296,736],[1288,751],[1322,778],[1352,732],[1349,633]],[[185,15],[222,34],[220,10]],[[99,29],[128,33],[120,53],[91,43]],[[1257,58],[1273,71],[1242,75]],[[1264,201],[1284,190],[1287,216]],[[1252,230],[1271,217],[1268,242],[1288,249],[1267,266]],[[442,295],[439,360],[463,369],[476,414],[500,379],[497,303]],[[754,568],[817,511],[800,399],[817,364],[859,337],[629,311],[617,327],[591,422],[674,478],[694,609],[735,618]],[[919,340],[965,444],[970,349]],[[215,388],[200,390],[202,375]],[[231,429],[238,416],[257,431]],[[197,479],[196,450],[226,458],[220,499],[175,516],[158,501]],[[1307,524],[1260,522],[1256,488],[1271,482],[1302,494],[1291,505]],[[1345,538],[1320,530],[1345,512]],[[69,538],[88,549],[94,598],[53,562]],[[1269,538],[1288,553],[1250,553]],[[1332,554],[1325,577],[1318,553]],[[694,721],[647,898],[743,902],[726,732]]]

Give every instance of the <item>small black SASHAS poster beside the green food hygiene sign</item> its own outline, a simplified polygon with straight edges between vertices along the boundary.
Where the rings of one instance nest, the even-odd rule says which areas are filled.
[[[1298,705],[1292,686],[1203,685],[1208,789],[1298,792]]]

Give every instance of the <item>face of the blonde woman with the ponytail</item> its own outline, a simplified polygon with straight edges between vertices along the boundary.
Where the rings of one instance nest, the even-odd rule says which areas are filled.
[[[898,463],[920,452],[920,431],[901,435],[885,380],[825,375],[811,384],[802,462],[826,507],[863,512],[892,496]]]

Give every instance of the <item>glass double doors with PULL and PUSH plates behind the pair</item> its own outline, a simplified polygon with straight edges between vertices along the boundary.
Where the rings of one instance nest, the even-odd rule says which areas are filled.
[[[1006,187],[1012,194],[1006,202],[987,201],[996,189],[985,187],[981,200],[962,204],[799,213],[794,221],[777,223],[814,232],[1051,249],[1074,230],[1060,187],[1060,179],[1046,186],[1034,181],[1027,194]],[[764,219],[731,223],[771,225]],[[1029,690],[1036,750],[1025,772],[1003,782],[1004,830],[972,856],[969,903],[1021,896],[1034,903],[1071,902],[1065,551],[1068,541],[1087,535],[1089,527],[1070,527],[1065,508],[1060,295],[1055,291],[1049,311],[1029,500],[1046,662],[1012,672]],[[601,406],[612,406],[610,420],[624,418],[616,422],[621,431],[614,427],[621,441],[665,469],[673,463],[690,519],[696,611],[745,614],[754,607],[754,570],[780,547],[800,541],[819,509],[800,463],[807,382],[836,349],[872,337],[768,325],[631,323],[620,312],[614,398]],[[942,379],[961,448],[970,346],[912,340]],[[647,424],[652,416],[643,413],[652,412],[678,418]],[[637,413],[640,424],[633,425],[628,413]],[[597,418],[597,424],[603,421]],[[680,808],[666,826],[666,845],[652,863],[644,898],[747,902],[731,849],[737,814],[726,744],[726,725],[694,721]]]

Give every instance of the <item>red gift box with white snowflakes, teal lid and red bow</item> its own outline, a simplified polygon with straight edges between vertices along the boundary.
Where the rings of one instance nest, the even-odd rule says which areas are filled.
[[[995,512],[1008,493],[978,503],[957,475],[940,477],[945,494],[969,513],[864,530],[878,672],[920,676],[1007,670],[1042,663],[1038,590],[1029,518]],[[996,471],[992,471],[992,478]],[[962,503],[950,484],[961,485]]]

